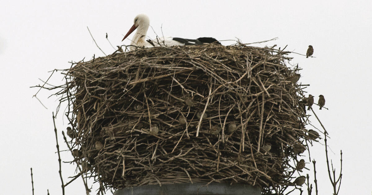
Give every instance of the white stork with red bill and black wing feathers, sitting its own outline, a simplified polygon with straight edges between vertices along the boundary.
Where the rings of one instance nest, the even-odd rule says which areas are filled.
[[[177,46],[177,45],[202,45],[203,43],[219,43],[214,38],[203,37],[198,39],[183,39],[183,38],[157,38],[154,40],[146,40],[146,33],[150,26],[150,19],[145,14],[139,14],[134,18],[134,24],[129,29],[128,33],[124,36],[123,40],[127,38],[135,29],[137,29],[135,35],[132,38],[131,45],[145,48],[151,48],[155,46]],[[122,40],[122,41],[123,41]],[[134,48],[131,48],[134,49]]]

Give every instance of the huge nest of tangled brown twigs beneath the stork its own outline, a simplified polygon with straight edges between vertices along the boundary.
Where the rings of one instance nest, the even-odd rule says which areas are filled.
[[[58,93],[75,160],[102,189],[236,182],[282,192],[309,140],[288,53],[212,44],[75,64]]]

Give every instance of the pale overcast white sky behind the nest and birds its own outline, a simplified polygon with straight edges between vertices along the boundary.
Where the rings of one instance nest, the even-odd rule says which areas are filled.
[[[335,153],[330,157],[337,170],[343,150],[340,195],[371,194],[372,1],[35,2],[4,1],[0,7],[1,194],[31,194],[31,167],[35,194],[46,194],[47,189],[52,195],[61,194],[52,124],[58,103],[56,97],[47,99],[51,92],[40,92],[46,110],[32,98],[37,90],[29,87],[40,84],[39,78],[46,80],[48,71],[70,67],[68,61],[103,55],[87,26],[103,51],[112,53],[105,34],[114,46],[121,45],[139,13],[150,17],[158,33],[163,25],[165,36],[239,38],[244,43],[279,37],[256,46],[288,45],[288,51],[302,54],[308,45],[314,46],[317,58],[291,55],[292,63],[303,68],[300,81],[310,84],[307,91],[325,97],[329,110],[315,111],[330,133],[330,149]],[[148,35],[155,38],[152,32]],[[61,84],[61,79],[55,74],[51,83]],[[66,121],[60,113],[56,121],[59,136]],[[320,127],[315,118],[312,122]],[[59,138],[62,149],[66,148]],[[315,146],[311,153],[317,160],[320,194],[331,194],[324,147]],[[65,153],[62,160],[71,157]],[[74,166],[63,165],[62,169],[68,181]],[[66,194],[85,194],[81,179],[67,186]]]

